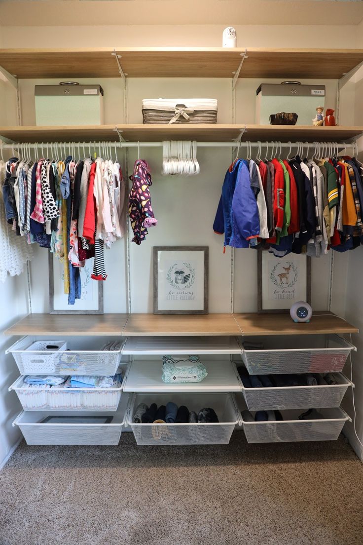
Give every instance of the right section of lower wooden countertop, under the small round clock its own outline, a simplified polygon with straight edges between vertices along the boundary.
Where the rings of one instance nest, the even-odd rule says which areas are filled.
[[[290,314],[233,314],[244,336],[252,335],[317,335],[325,333],[358,333],[359,329],[331,312],[316,312],[309,324],[295,324]]]

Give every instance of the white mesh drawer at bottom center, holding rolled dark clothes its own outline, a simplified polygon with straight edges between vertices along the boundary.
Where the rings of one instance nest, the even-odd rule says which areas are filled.
[[[219,423],[136,424],[133,413],[139,403],[166,405],[173,401],[178,407],[186,405],[189,411],[211,407]],[[139,394],[133,395],[127,425],[131,426],[138,445],[227,445],[239,421],[237,408],[230,393],[200,394]]]

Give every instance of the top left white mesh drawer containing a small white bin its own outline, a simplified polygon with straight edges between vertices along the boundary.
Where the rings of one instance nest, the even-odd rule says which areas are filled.
[[[116,341],[116,338],[112,340]],[[52,364],[46,356],[48,352],[39,349],[34,337],[23,337],[8,348],[7,354],[14,356],[21,374],[57,374],[57,375],[114,375],[121,360],[123,342],[119,341],[118,350],[101,350],[110,341],[107,337],[73,338],[67,341],[65,348],[52,354]],[[42,341],[44,344],[53,341]],[[38,349],[33,350],[36,346]],[[42,348],[42,347],[40,347]],[[29,358],[32,365],[29,366]]]

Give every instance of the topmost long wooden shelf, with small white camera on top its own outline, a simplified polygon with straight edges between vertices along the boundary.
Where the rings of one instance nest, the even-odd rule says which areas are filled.
[[[244,47],[116,47],[127,77],[230,77]],[[2,49],[0,65],[19,79],[119,77],[114,48]],[[247,48],[239,77],[339,79],[363,61],[362,49]]]

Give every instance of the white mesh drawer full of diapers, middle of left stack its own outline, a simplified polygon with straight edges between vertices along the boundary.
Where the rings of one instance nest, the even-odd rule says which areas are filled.
[[[19,397],[24,410],[48,411],[115,411],[121,398],[121,391],[127,376],[128,365],[121,365],[118,372],[122,373],[122,385],[109,388],[67,388],[63,385],[51,388],[28,387],[24,377],[19,377],[9,387]]]

